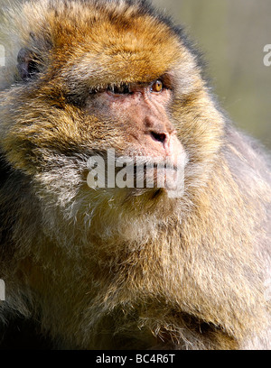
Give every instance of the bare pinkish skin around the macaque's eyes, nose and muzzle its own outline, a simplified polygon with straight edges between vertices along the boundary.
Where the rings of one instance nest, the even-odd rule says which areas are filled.
[[[178,160],[184,162],[186,155],[168,117],[173,99],[170,87],[166,87],[162,79],[150,85],[124,83],[119,87],[111,86],[92,93],[85,111],[98,111],[101,120],[110,115],[115,129],[126,135],[129,142],[126,153],[132,157],[143,156],[148,162],[164,161],[177,168]],[[179,170],[184,170],[184,167],[179,167]],[[157,170],[153,179],[157,181]]]

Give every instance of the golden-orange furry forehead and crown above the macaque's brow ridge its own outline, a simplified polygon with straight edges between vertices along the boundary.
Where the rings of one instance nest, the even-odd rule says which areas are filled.
[[[93,85],[153,80],[189,57],[173,27],[143,2],[45,0],[23,13],[49,67]]]

